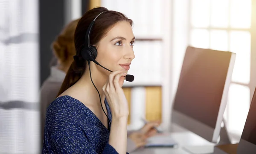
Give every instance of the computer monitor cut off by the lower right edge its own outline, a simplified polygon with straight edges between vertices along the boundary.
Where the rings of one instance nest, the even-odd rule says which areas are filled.
[[[242,103],[242,102],[241,102]],[[239,114],[239,113],[238,113]],[[237,147],[237,154],[256,153],[256,89],[244,124],[244,130]]]

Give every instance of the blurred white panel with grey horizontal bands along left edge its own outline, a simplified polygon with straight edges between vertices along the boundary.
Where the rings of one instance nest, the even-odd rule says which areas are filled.
[[[38,0],[0,0],[0,153],[39,149]]]

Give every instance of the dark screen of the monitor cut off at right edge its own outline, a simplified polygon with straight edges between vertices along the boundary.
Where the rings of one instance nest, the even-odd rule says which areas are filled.
[[[241,139],[256,145],[256,90],[253,94]]]

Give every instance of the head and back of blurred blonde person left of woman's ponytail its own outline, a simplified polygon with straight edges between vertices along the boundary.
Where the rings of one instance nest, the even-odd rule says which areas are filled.
[[[57,65],[51,66],[50,75],[41,87],[41,140],[44,137],[47,107],[57,97],[67,70],[73,62],[73,56],[76,54],[74,34],[78,21],[79,19],[73,20],[67,24],[51,46],[54,58],[57,59]]]

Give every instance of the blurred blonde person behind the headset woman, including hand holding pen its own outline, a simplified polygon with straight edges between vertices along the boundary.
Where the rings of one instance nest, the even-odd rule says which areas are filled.
[[[47,107],[58,95],[65,75],[73,62],[73,56],[76,55],[74,44],[74,34],[79,19],[71,21],[52,43],[52,51],[57,59],[57,65],[51,67],[50,75],[44,81],[41,88],[41,141],[44,137],[45,115]],[[146,139],[156,134],[154,126],[157,122],[145,124],[138,131],[128,131],[127,151],[134,151],[136,148],[146,144]],[[41,142],[42,145],[42,142]]]

